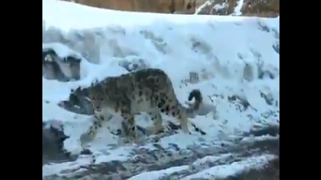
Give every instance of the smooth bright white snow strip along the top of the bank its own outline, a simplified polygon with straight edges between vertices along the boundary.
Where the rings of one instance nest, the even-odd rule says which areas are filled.
[[[251,17],[235,17],[231,19],[230,17],[212,15],[195,16],[184,14],[175,14],[175,18],[173,18],[173,14],[105,10],[58,0],[43,0],[43,2],[45,3],[42,4],[42,18],[45,20],[46,27],[57,27],[57,24],[59,24],[59,28],[63,31],[69,31],[70,29],[104,27],[116,24],[133,27],[138,25],[150,25],[155,21],[162,24],[164,20],[171,21],[176,24],[189,24],[195,22],[206,22],[213,19],[216,21],[234,22],[242,21],[244,19],[252,19]],[[59,9],[59,14],[61,14],[61,16],[56,16],[58,13],[57,9]],[[86,16],[83,15],[84,13]],[[63,21],[61,20],[61,17],[64,17]],[[79,23],[79,19],[82,20],[81,23]]]

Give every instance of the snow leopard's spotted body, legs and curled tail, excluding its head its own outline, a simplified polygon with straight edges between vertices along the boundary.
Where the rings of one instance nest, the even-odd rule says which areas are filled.
[[[89,88],[89,98],[95,111],[95,121],[82,140],[92,139],[101,122],[111,114],[119,113],[123,117],[123,132],[128,140],[137,142],[135,114],[146,112],[154,123],[154,133],[163,131],[161,113],[178,119],[181,129],[189,133],[188,117],[199,108],[202,96],[194,89],[189,100],[195,103],[186,108],[176,98],[170,78],[160,69],[144,69],[118,77],[108,77],[93,83]]]

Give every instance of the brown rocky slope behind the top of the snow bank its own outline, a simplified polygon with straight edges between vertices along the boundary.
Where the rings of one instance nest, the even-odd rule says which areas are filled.
[[[196,12],[213,15],[277,17],[280,12],[280,0],[74,0],[72,2],[106,9],[156,13],[194,14]]]

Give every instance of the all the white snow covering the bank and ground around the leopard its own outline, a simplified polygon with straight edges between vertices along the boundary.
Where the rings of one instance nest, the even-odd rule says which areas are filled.
[[[276,50],[279,18],[134,13],[55,0],[43,0],[42,14],[43,47],[51,47],[61,56],[70,53],[88,56],[82,59],[78,81],[43,78],[43,122],[55,120],[63,125],[64,133],[69,136],[64,141],[64,148],[71,154],[82,151],[79,137],[91,125],[91,117],[69,112],[58,103],[68,100],[72,88],[88,87],[96,78],[127,73],[119,66],[122,61],[144,62],[148,67],[164,70],[181,103],[187,101],[192,89],[199,88],[204,101],[213,105],[213,111],[206,116],[190,119],[206,135],[190,127],[191,135],[180,132],[161,138],[158,144],[163,148],[171,144],[186,149],[191,145],[228,142],[254,126],[279,124],[279,53]],[[57,34],[60,33],[68,43],[59,43],[62,38]],[[55,41],[58,43],[53,43]],[[190,78],[191,72],[199,74],[199,80],[182,82]],[[244,106],[244,102],[249,106]],[[151,125],[144,119],[143,115],[138,116],[138,124]],[[164,119],[175,122],[167,116]],[[115,117],[106,126],[118,126],[117,120]],[[81,167],[88,164],[135,159],[133,149],[154,148],[148,143],[115,148],[111,144],[116,144],[117,138],[103,127],[88,147],[92,155],[81,155],[74,162],[45,164],[43,176],[70,175],[76,173],[72,169],[82,171]],[[252,139],[255,140],[247,138],[246,141]],[[204,174],[226,176],[256,168],[273,158],[268,154],[250,157],[181,178],[191,179]],[[164,173],[185,168],[188,166],[144,174],[156,179]],[[146,178],[144,174],[131,179]]]

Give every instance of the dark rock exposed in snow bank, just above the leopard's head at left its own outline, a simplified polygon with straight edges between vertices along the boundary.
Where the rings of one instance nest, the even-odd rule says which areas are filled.
[[[66,82],[80,79],[81,58],[59,57],[53,49],[42,50],[42,75],[44,78]]]

